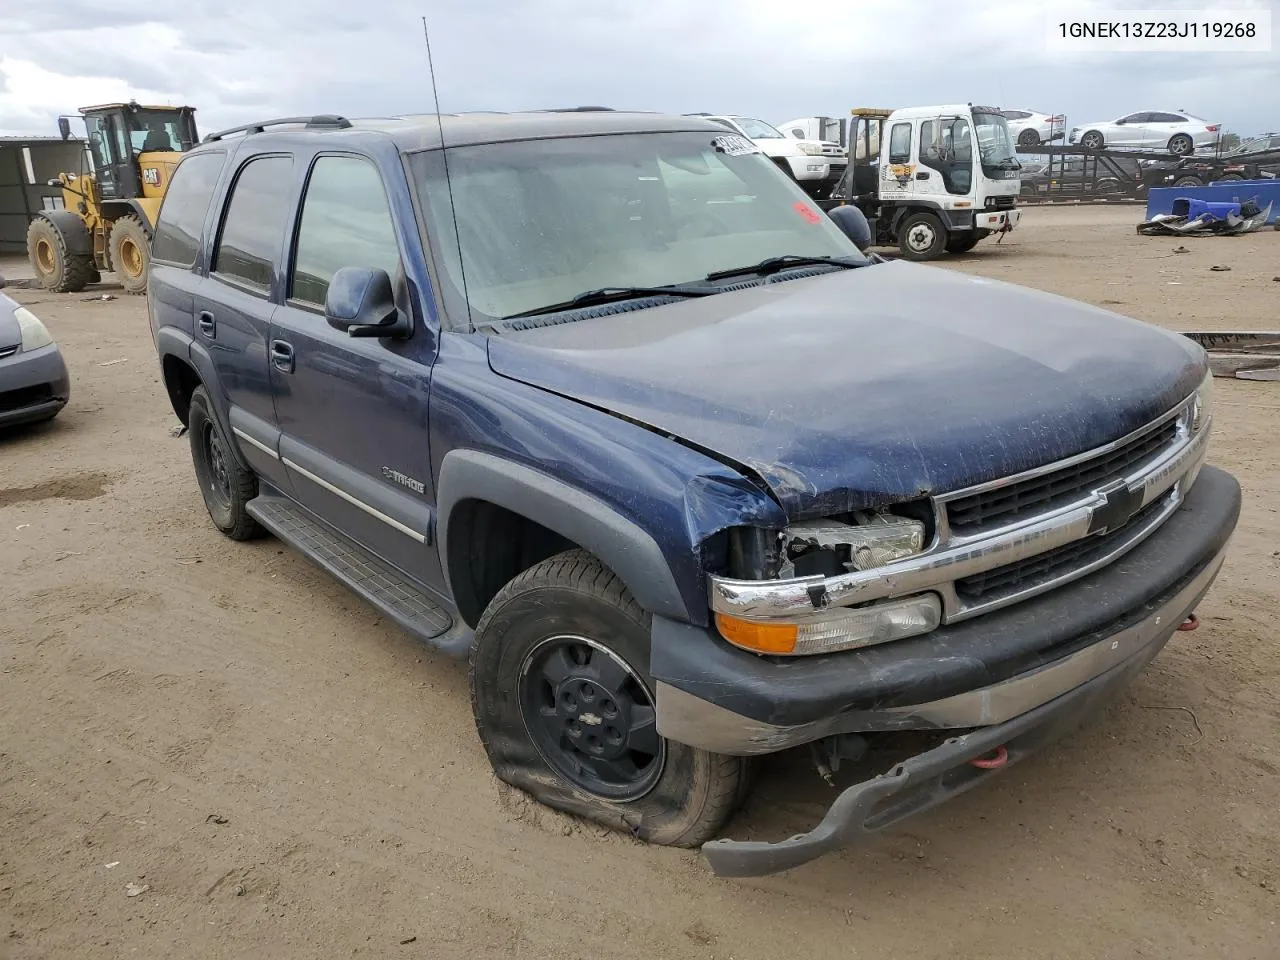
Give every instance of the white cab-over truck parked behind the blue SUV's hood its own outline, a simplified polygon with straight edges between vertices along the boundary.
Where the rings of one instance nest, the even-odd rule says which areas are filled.
[[[783,125],[808,129],[804,124]],[[822,206],[858,206],[877,246],[897,244],[908,260],[933,260],[965,253],[1018,225],[1021,165],[1009,122],[996,108],[858,108],[847,133],[849,168]]]

